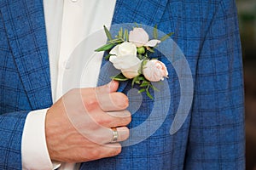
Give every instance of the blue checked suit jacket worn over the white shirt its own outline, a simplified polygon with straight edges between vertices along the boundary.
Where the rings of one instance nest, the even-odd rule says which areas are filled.
[[[119,156],[84,162],[81,169],[243,169],[243,84],[235,0],[117,0],[113,24],[134,22],[174,32],[172,39],[188,60],[193,78],[189,115],[177,133],[170,134],[181,94],[172,62],[159,54],[170,74],[169,89],[163,90],[170,94],[154,100],[143,96],[138,108],[130,108],[134,113],[129,127],[147,122],[143,136],[155,121],[163,122],[139,143],[125,143]],[[103,71],[99,84],[108,82],[109,76],[113,75]],[[127,94],[130,89],[131,82],[126,82],[119,90]],[[42,0],[0,1],[0,91],[0,168],[21,169],[26,115],[52,105]],[[131,105],[136,104],[137,96],[128,95]],[[148,121],[156,103],[159,116]],[[131,133],[129,141],[137,136]]]

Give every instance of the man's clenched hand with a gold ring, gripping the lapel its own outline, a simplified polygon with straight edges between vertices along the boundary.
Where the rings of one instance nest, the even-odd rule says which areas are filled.
[[[116,156],[119,141],[129,137],[125,127],[131,113],[125,111],[128,98],[116,92],[118,82],[98,88],[73,89],[47,111],[46,142],[53,161],[81,162]],[[111,143],[117,127],[118,142]]]

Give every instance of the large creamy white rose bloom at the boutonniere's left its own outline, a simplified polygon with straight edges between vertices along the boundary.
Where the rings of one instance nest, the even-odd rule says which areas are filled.
[[[127,78],[137,77],[141,69],[142,61],[137,58],[137,47],[131,42],[123,42],[115,46],[109,54],[109,61],[113,66],[122,71]]]

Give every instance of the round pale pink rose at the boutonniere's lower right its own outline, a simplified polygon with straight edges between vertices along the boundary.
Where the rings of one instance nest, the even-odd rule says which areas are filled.
[[[157,59],[148,60],[143,66],[143,75],[150,82],[159,82],[168,78],[168,71],[166,65]]]

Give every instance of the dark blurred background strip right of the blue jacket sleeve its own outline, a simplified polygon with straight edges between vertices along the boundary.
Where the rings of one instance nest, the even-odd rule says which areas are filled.
[[[244,63],[246,167],[256,170],[256,0],[236,0]]]

